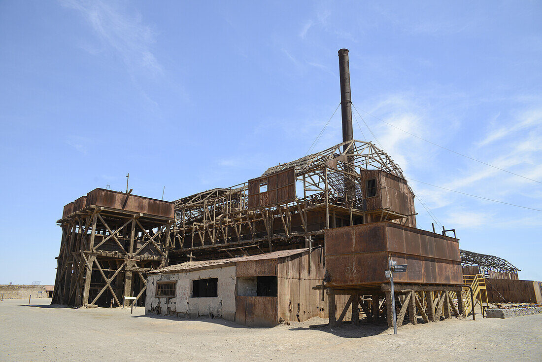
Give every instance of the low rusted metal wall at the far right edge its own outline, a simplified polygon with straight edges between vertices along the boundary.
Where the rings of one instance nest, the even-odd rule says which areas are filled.
[[[531,280],[486,278],[489,303],[501,303],[502,297],[512,303],[542,303],[540,284]]]

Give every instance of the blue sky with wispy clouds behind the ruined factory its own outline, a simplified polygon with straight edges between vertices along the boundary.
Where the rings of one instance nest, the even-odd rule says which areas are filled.
[[[0,283],[54,282],[63,205],[175,200],[305,155],[352,101],[405,174],[542,208],[542,3],[0,3]],[[358,117],[354,138],[373,136]],[[341,141],[337,112],[315,149]],[[362,134],[363,131],[363,134]],[[411,181],[418,227],[542,280],[542,213]]]

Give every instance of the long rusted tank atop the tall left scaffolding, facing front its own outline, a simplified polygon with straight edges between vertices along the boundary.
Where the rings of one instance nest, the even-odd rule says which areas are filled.
[[[103,206],[125,211],[158,215],[167,218],[175,216],[173,202],[128,195],[123,192],[96,188],[87,194],[86,206]]]

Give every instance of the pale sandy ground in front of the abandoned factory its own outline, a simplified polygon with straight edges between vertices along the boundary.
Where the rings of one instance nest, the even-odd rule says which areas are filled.
[[[50,299],[0,302],[0,360],[531,360],[542,361],[542,315],[330,329],[313,319],[247,328],[218,319],[144,315],[144,308],[73,309]],[[312,327],[311,327],[312,326]]]

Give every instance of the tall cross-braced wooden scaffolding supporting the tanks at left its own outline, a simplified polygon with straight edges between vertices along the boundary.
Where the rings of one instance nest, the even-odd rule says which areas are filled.
[[[125,296],[144,304],[145,272],[166,265],[171,218],[91,205],[57,223],[62,239],[52,304],[121,306]]]

